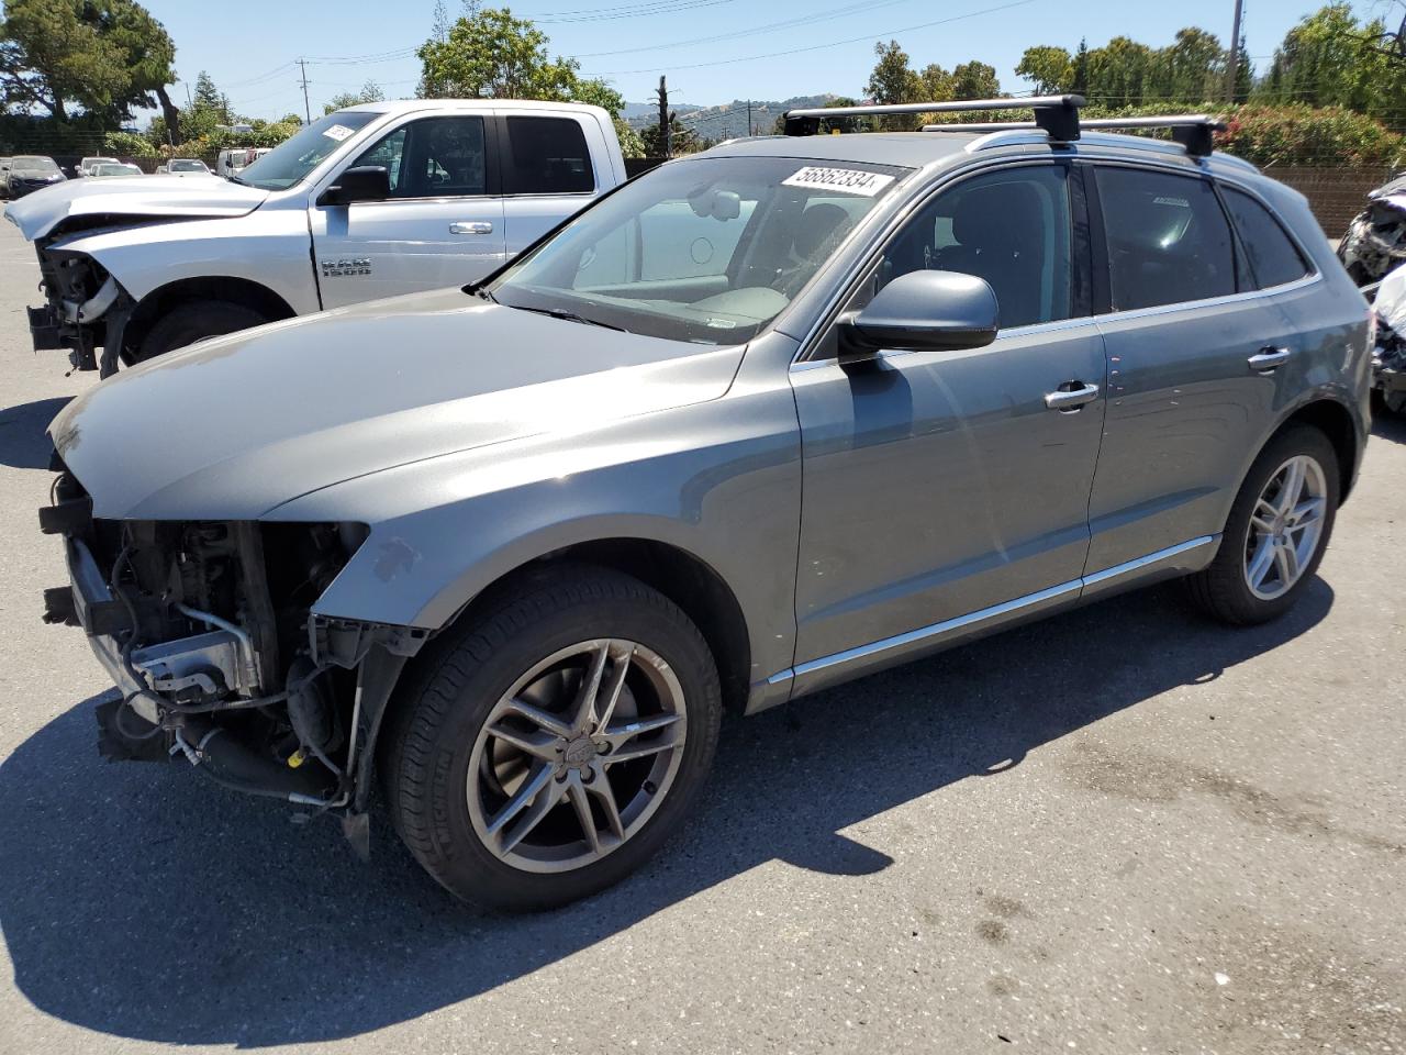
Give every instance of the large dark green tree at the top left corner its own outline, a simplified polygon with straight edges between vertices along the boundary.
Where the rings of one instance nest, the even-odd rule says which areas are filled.
[[[174,107],[176,46],[135,0],[8,0],[0,21],[0,101],[67,121],[82,110],[117,128],[138,107]]]

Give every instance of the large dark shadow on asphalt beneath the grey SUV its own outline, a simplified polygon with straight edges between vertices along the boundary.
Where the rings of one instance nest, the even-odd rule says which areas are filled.
[[[93,701],[0,765],[0,924],[39,1010],[121,1037],[253,1048],[356,1037],[551,965],[772,859],[828,874],[896,867],[844,829],[1292,640],[1282,620],[1204,622],[1159,587],[724,723],[699,816],[640,874],[551,913],[453,902],[374,821],[370,867],[326,820],[184,767],[107,764]],[[938,892],[941,896],[941,892]]]

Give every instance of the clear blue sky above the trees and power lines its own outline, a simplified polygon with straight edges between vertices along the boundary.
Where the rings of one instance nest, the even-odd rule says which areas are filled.
[[[176,41],[183,82],[208,70],[235,107],[252,117],[302,113],[298,58],[308,59],[314,114],[322,101],[367,77],[389,98],[412,96],[419,77],[413,48],[429,35],[434,7],[433,0],[145,3]],[[1285,30],[1319,6],[1246,0],[1244,34],[1257,65]],[[458,0],[449,0],[449,7],[456,13]],[[1388,7],[1378,0],[1358,10]],[[579,58],[583,73],[605,76],[627,101],[651,98],[664,72],[673,101],[709,106],[821,91],[858,96],[873,66],[875,41],[890,37],[918,68],[938,62],[950,69],[977,58],[995,66],[1004,90],[1019,91],[1029,86],[1015,76],[1015,65],[1032,44],[1074,49],[1080,37],[1097,46],[1128,35],[1161,45],[1184,25],[1201,25],[1225,41],[1233,1],[530,0],[512,10],[538,20],[554,52]],[[686,44],[662,46],[676,42]],[[180,84],[174,96],[184,93]]]

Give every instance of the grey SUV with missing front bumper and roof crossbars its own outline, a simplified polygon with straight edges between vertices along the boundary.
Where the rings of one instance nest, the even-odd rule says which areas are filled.
[[[1204,118],[1078,138],[1078,101],[735,141],[478,284],[87,388],[41,523],[104,753],[363,845],[378,772],[449,890],[546,906],[678,829],[725,708],[1168,577],[1288,612],[1367,442],[1362,298]]]

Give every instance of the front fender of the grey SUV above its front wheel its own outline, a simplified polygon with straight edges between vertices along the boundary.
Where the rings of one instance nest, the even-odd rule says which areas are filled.
[[[429,459],[305,495],[264,519],[333,511],[371,532],[316,615],[439,629],[541,556],[640,539],[683,550],[733,589],[754,681],[790,665],[800,440],[789,388]]]

